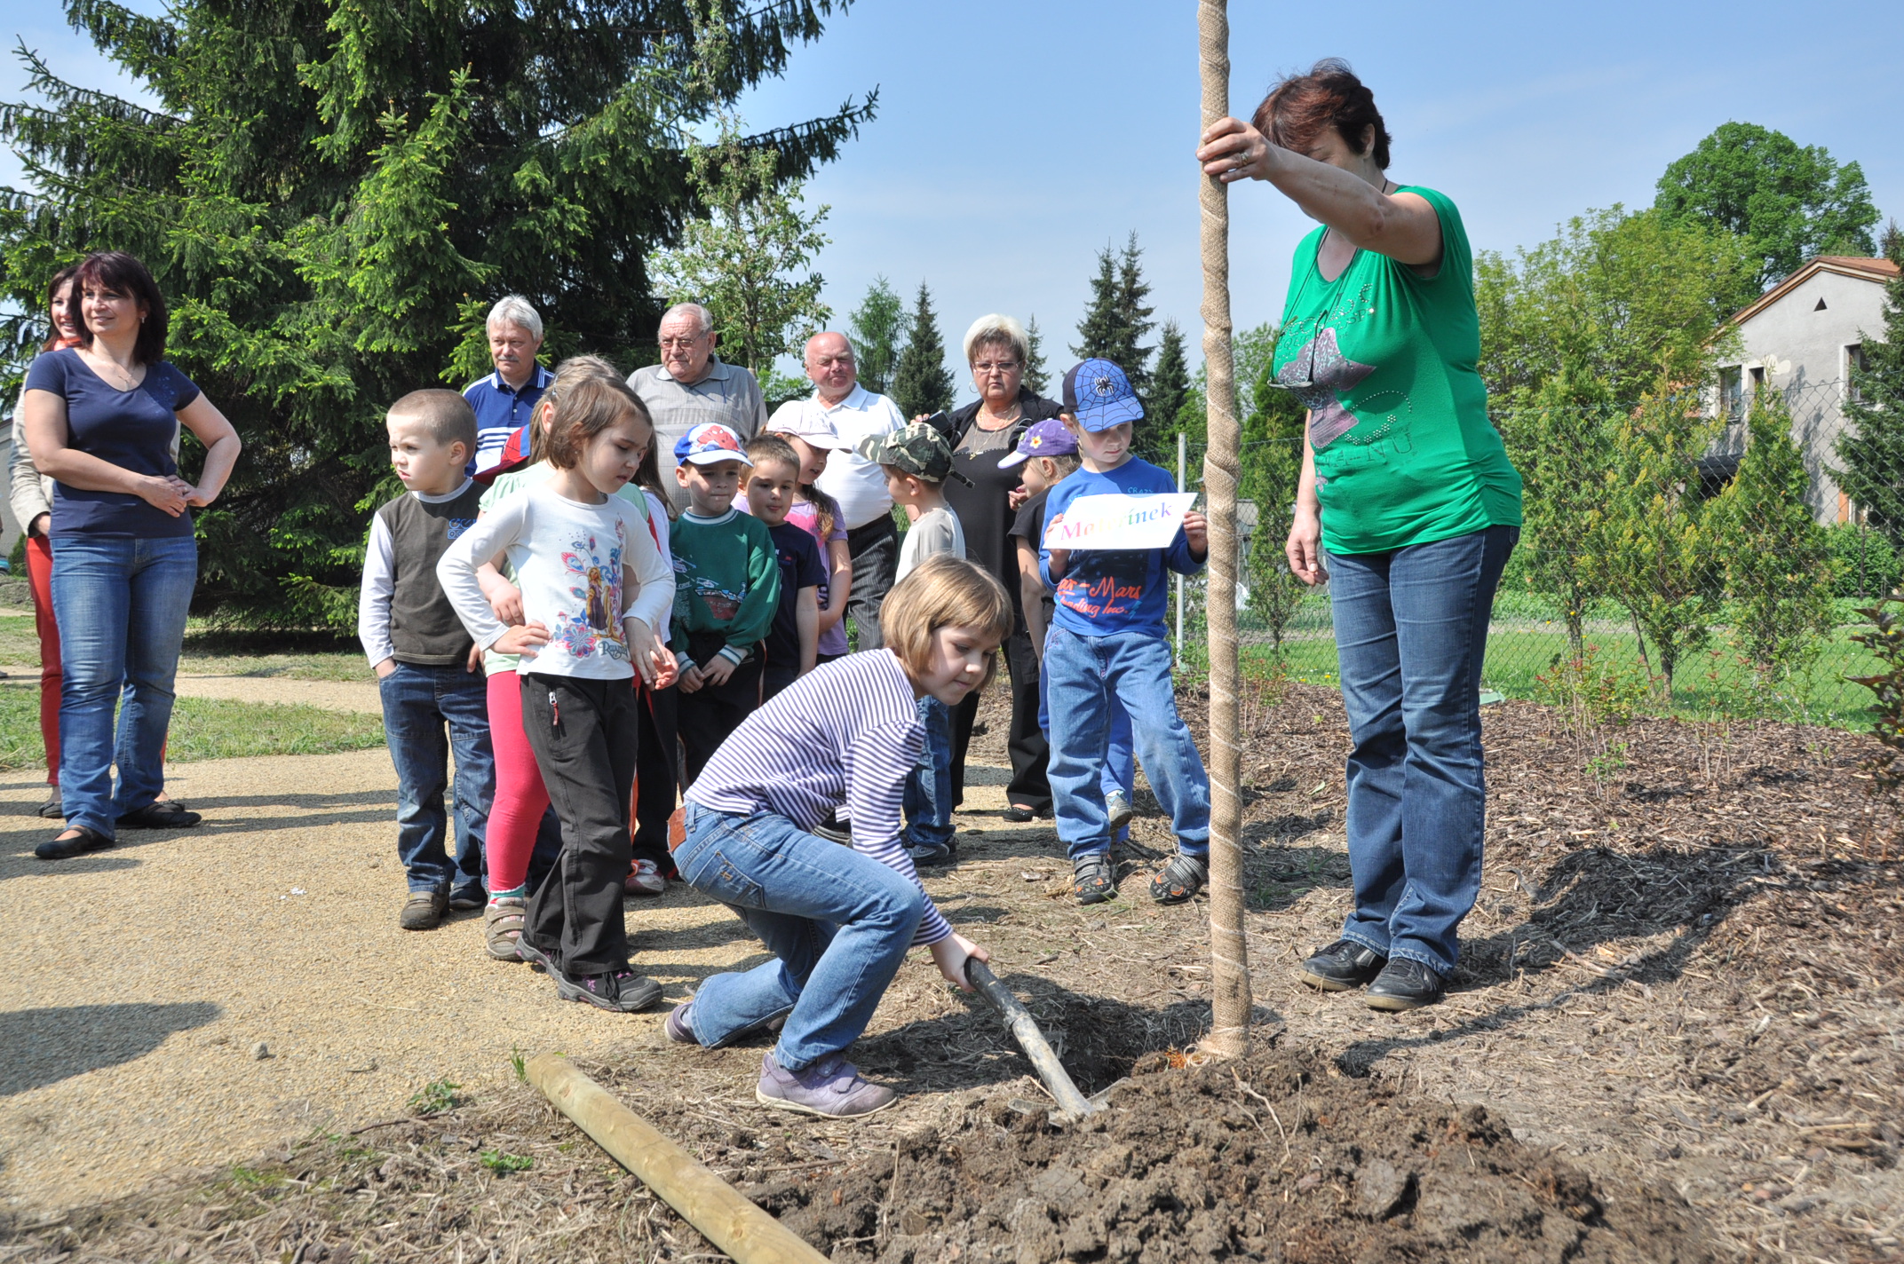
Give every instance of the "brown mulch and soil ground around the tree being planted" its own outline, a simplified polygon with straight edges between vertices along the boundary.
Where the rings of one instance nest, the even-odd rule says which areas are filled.
[[[1339,697],[1264,691],[1245,721],[1243,1062],[1182,1057],[1205,919],[1142,895],[1152,811],[1112,904],[1078,908],[1049,830],[996,817],[929,878],[1085,1091],[1127,1077],[1106,1116],[1053,1123],[996,1018],[920,963],[855,1049],[906,1096],[859,1125],[758,1108],[765,1041],[588,1070],[838,1260],[1898,1256],[1900,864],[1862,739],[1489,708],[1462,969],[1398,1017],[1289,977],[1348,908]],[[366,1123],[13,1224],[0,1258],[710,1258],[526,1087]]]

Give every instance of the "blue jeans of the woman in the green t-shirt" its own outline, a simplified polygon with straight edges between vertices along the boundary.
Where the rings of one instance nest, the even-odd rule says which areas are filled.
[[[1481,659],[1495,584],[1519,539],[1487,527],[1327,558],[1342,662],[1348,864],[1342,938],[1439,973],[1481,893]]]

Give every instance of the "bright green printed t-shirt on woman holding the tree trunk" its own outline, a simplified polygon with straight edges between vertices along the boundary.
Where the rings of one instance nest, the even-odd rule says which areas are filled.
[[[1519,525],[1521,476],[1487,421],[1474,255],[1445,194],[1401,185],[1441,219],[1441,265],[1420,276],[1358,249],[1333,282],[1297,246],[1276,381],[1310,409],[1321,543],[1335,554]]]

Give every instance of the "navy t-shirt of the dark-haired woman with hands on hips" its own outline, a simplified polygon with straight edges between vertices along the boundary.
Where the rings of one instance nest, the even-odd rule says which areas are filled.
[[[147,365],[145,381],[131,390],[118,390],[69,346],[38,356],[25,390],[50,390],[67,402],[67,447],[133,474],[179,472],[171,459],[177,411],[198,398],[198,386],[169,360]],[[192,533],[192,512],[173,518],[126,491],[80,491],[55,482],[51,535],[67,531],[171,539]]]

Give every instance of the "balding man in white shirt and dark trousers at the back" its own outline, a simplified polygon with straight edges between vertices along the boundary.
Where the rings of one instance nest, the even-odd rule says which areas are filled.
[[[868,434],[893,434],[906,423],[897,404],[859,385],[859,364],[843,333],[807,339],[805,367],[813,396],[783,404],[767,428],[794,434],[832,430],[845,445],[826,461],[826,472],[815,485],[840,503],[840,516],[845,518],[845,546],[853,554],[853,594],[845,613],[857,632],[855,647],[880,649],[885,643],[880,638],[880,603],[899,567],[899,531],[893,527],[885,472],[853,449]]]

